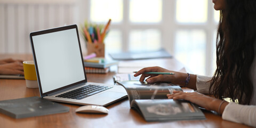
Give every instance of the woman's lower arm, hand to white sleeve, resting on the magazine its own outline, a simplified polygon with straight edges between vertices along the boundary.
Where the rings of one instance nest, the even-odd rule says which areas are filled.
[[[223,119],[228,121],[256,127],[256,106],[237,105],[234,102],[228,103],[198,92],[173,91],[173,94],[167,94],[167,97],[173,100],[188,100],[207,110],[217,111],[222,114]]]

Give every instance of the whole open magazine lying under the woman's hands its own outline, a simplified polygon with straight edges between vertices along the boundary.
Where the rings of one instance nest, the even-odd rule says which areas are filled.
[[[167,99],[173,90],[182,91],[180,86],[167,83],[117,82],[122,85],[130,101],[130,107],[137,110],[146,121],[177,121],[205,119],[198,106],[186,100]]]

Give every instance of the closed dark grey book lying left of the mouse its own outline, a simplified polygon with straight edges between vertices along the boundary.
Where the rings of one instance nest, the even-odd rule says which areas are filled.
[[[39,97],[0,101],[0,113],[12,118],[66,113],[69,107]]]

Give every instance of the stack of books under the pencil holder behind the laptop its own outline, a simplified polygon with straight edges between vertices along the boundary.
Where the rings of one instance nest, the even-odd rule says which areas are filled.
[[[117,64],[118,61],[106,60],[104,58],[93,58],[84,60],[86,73],[106,74],[108,73],[110,66]]]

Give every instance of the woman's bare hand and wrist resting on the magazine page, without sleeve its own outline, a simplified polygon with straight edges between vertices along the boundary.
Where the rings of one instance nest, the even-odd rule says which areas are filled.
[[[220,103],[222,102],[222,100],[215,99],[198,92],[173,91],[173,94],[167,94],[167,97],[168,99],[173,99],[173,100],[179,100],[179,99],[188,100],[190,102],[195,103],[198,106],[205,108],[206,110],[214,110],[220,114],[223,113],[223,110],[228,104],[228,102],[224,102],[221,105],[221,109],[219,111]]]

